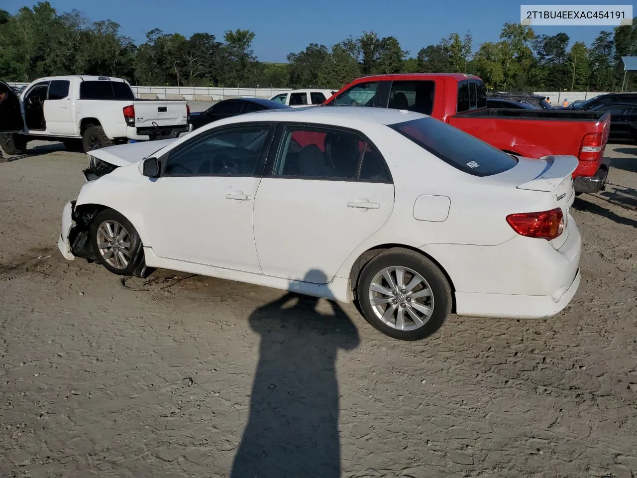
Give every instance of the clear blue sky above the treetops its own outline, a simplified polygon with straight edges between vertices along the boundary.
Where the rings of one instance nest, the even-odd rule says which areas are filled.
[[[32,6],[24,0],[3,0],[2,8],[16,13]],[[289,52],[299,52],[309,43],[324,44],[375,31],[378,36],[396,36],[405,50],[415,56],[422,47],[438,43],[452,32],[473,35],[474,50],[484,41],[497,41],[505,22],[520,21],[520,3],[510,0],[423,1],[366,0],[350,1],[280,0],[50,0],[59,11],[80,10],[90,20],[111,20],[122,25],[122,33],[136,42],[157,27],[166,33],[206,32],[222,40],[229,29],[250,29],[256,37],[253,49],[259,60],[283,62]],[[525,4],[531,3],[525,1]],[[575,2],[573,2],[575,3]],[[622,2],[601,1],[596,4]],[[623,2],[627,3],[627,2]],[[487,6],[489,4],[489,6]],[[542,1],[540,4],[550,4]],[[627,3],[629,4],[629,3]],[[355,6],[356,5],[356,6]],[[573,41],[587,45],[602,29],[612,27],[535,27],[536,34],[563,31]]]

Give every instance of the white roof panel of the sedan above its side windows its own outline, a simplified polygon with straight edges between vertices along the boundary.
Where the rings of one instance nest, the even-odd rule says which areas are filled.
[[[268,110],[256,113],[246,113],[234,116],[228,120],[219,120],[215,124],[231,124],[233,122],[249,121],[294,121],[321,124],[341,124],[347,122],[351,127],[359,128],[369,124],[395,124],[427,115],[406,110],[391,108],[368,108],[365,106],[308,106],[306,108],[285,108],[282,110]]]

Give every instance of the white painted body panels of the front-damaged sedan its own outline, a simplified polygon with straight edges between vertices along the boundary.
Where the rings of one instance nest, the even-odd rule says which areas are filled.
[[[69,240],[74,210],[102,205],[131,222],[143,242],[146,264],[154,268],[348,302],[357,261],[378,247],[400,245],[439,264],[459,315],[557,314],[580,282],[582,240],[568,212],[577,159],[519,157],[502,173],[471,175],[387,126],[424,118],[349,107],[248,113],[174,140],[90,152],[119,167],[89,180],[66,205],[59,249],[67,259],[75,258]],[[391,180],[276,177],[267,169],[249,177],[149,178],[141,172],[142,160],[150,155],[167,157],[201,134],[250,123],[357,131],[380,152]],[[466,157],[471,159],[472,152]],[[566,224],[552,240],[520,235],[505,220],[510,214],[554,208],[562,210]]]

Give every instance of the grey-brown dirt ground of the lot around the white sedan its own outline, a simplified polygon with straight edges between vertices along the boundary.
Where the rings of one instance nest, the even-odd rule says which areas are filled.
[[[391,340],[353,307],[57,250],[83,154],[0,163],[1,477],[637,477],[637,147],[547,320]]]

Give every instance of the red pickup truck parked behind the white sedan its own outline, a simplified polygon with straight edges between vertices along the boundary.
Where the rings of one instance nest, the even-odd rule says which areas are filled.
[[[610,159],[604,157],[608,112],[487,108],[482,80],[461,73],[365,76],[343,87],[323,106],[409,110],[431,115],[517,156],[576,156],[575,191],[605,189],[610,168]]]

